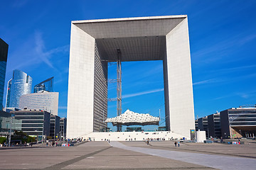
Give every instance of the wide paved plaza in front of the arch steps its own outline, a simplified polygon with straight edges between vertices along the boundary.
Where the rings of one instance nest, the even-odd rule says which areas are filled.
[[[255,169],[256,144],[86,142],[0,149],[0,169]]]

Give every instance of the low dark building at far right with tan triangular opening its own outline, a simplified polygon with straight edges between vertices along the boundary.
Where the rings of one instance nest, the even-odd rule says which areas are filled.
[[[256,135],[256,107],[229,108],[220,112],[221,134],[223,138]]]

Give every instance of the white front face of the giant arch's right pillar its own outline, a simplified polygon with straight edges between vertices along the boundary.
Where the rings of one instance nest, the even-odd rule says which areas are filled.
[[[170,125],[166,128],[190,137],[190,130],[195,129],[195,116],[187,18],[166,35],[164,63],[164,76],[168,75],[168,82],[165,83],[165,88],[168,89],[165,90],[165,95],[169,98],[169,101],[166,100],[166,105],[169,105],[166,107],[169,108],[169,111],[166,111],[169,112],[166,125]]]

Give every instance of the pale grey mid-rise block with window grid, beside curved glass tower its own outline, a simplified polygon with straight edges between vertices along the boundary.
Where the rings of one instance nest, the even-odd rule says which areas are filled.
[[[58,92],[41,91],[36,94],[22,95],[18,107],[42,110],[58,115]]]

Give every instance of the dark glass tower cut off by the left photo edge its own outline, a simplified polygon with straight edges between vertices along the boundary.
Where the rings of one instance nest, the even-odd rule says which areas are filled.
[[[0,106],[3,108],[4,81],[9,45],[0,38]]]

